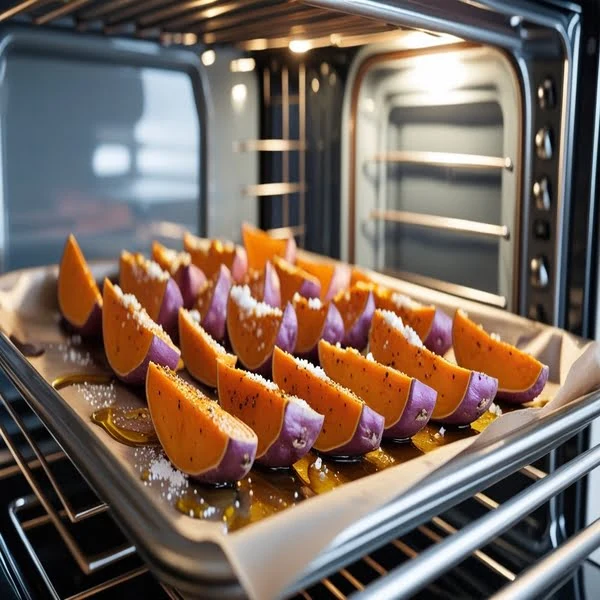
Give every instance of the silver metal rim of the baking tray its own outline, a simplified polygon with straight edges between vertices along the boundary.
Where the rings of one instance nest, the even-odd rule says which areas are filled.
[[[110,265],[114,261],[99,261],[95,264],[99,263]],[[56,266],[12,271],[0,276],[0,286],[3,279],[18,277],[19,273],[43,270],[50,272],[52,269],[56,270]],[[387,276],[379,278],[403,283]],[[420,288],[414,284],[411,287]],[[424,296],[432,295],[431,290],[421,290]],[[504,313],[499,309],[491,310]],[[528,322],[527,319],[523,321]],[[132,487],[127,486],[128,478],[122,476],[118,462],[112,460],[110,453],[104,450],[105,445],[101,439],[83,423],[3,331],[0,331],[0,368],[86,482],[110,506],[111,514],[119,527],[159,578],[192,595],[240,595],[240,584],[218,543],[186,539],[170,527],[160,512],[153,510],[152,503],[145,502],[143,495],[136,494]],[[598,400],[600,390],[574,400],[538,421],[515,429],[502,440],[486,444],[442,465],[418,486],[406,490],[378,511],[356,521],[353,537],[342,543],[334,540],[288,587],[286,594],[318,581],[342,562],[401,535],[408,528],[426,521],[430,516],[543,456],[575,435],[593,418],[600,416]],[[201,548],[204,552],[207,548],[210,549],[211,560],[207,560],[205,553],[199,552]]]

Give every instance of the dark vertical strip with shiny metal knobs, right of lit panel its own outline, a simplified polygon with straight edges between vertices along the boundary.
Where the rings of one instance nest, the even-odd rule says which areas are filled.
[[[530,158],[530,180],[525,184],[523,250],[524,274],[521,308],[526,316],[556,323],[560,289],[563,211],[560,165],[563,115],[563,65],[545,61],[531,65],[532,127],[525,140],[525,159]],[[528,147],[527,147],[528,146]]]

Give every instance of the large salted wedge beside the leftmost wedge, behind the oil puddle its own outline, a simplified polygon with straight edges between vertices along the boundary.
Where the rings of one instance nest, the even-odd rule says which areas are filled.
[[[175,369],[179,348],[131,294],[108,279],[103,287],[102,336],[112,370],[126,383],[140,384],[151,361]]]

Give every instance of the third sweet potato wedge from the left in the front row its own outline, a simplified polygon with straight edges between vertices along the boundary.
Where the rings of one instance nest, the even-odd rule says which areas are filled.
[[[323,369],[280,348],[273,353],[273,381],[325,417],[314,447],[334,456],[361,456],[381,443],[384,418]]]

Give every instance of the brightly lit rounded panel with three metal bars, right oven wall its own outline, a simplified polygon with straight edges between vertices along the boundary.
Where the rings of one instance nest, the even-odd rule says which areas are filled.
[[[446,48],[362,65],[349,139],[356,262],[512,308],[521,112],[511,64]]]

